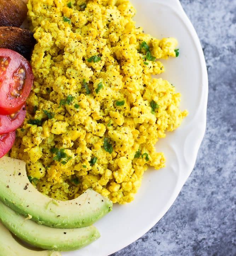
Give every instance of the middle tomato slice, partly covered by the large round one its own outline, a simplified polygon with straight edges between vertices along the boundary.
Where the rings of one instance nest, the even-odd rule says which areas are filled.
[[[25,105],[21,110],[11,116],[0,115],[0,134],[11,133],[24,122],[26,115]]]

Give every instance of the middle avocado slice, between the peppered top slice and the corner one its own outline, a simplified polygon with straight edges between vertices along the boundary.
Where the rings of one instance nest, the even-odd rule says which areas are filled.
[[[1,201],[0,220],[19,239],[47,250],[76,250],[90,244],[100,236],[93,226],[58,229],[37,224],[14,212]]]

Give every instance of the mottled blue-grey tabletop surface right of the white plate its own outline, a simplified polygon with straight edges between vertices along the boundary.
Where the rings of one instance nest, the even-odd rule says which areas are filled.
[[[191,176],[166,215],[112,256],[236,255],[236,0],[180,0],[209,77],[207,129]]]

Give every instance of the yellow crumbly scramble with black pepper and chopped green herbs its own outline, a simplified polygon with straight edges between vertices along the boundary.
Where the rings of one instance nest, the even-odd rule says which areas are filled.
[[[37,41],[27,117],[11,157],[42,193],[73,199],[87,188],[125,204],[149,166],[165,166],[159,138],[187,115],[158,59],[177,40],[136,28],[128,0],[29,0]]]

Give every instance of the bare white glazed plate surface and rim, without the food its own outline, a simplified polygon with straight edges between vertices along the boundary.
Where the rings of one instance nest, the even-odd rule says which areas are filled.
[[[173,204],[189,177],[206,128],[208,79],[197,34],[178,0],[132,0],[137,26],[154,37],[175,37],[180,55],[163,61],[162,78],[182,94],[180,108],[189,116],[176,131],[159,140],[157,151],[166,156],[166,167],[145,172],[135,200],[114,205],[114,210],[95,226],[101,238],[64,256],[107,256],[131,244],[154,226]]]

